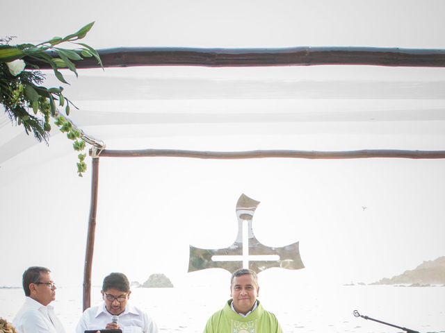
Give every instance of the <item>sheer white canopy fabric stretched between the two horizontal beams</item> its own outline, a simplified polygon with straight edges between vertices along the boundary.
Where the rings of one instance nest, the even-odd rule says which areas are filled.
[[[440,150],[444,73],[370,66],[84,69],[65,90],[80,109],[70,119],[107,148]],[[37,142],[2,117],[6,162]],[[253,144],[225,140],[213,148],[202,139],[233,135]],[[263,135],[273,139],[257,138]],[[192,146],[161,139],[184,136],[195,137]],[[129,138],[136,140],[120,142]]]

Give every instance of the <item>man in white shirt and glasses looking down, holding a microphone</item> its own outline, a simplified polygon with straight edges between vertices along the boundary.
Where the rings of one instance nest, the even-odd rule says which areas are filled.
[[[120,328],[124,333],[158,332],[153,319],[145,311],[129,303],[131,290],[127,276],[122,273],[106,276],[101,293],[104,302],[83,312],[76,333],[116,328]]]

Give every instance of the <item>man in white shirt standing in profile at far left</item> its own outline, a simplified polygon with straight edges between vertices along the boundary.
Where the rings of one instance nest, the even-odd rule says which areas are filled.
[[[23,273],[25,302],[13,320],[19,333],[65,333],[49,305],[56,299],[56,285],[48,268],[33,266]]]

